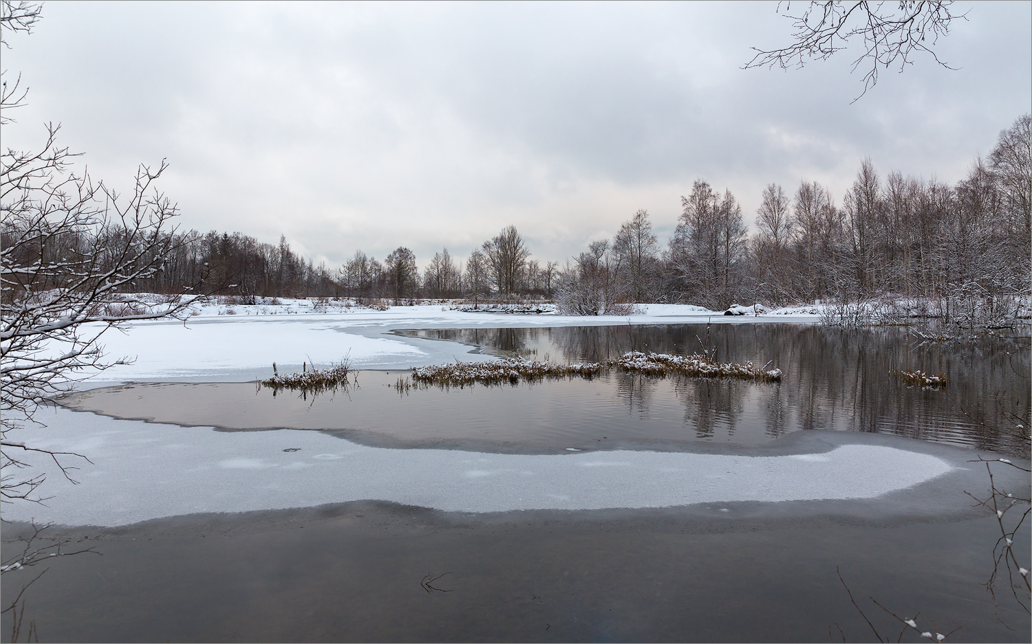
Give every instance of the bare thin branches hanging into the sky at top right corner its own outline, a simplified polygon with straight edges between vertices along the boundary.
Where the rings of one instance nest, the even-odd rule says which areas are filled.
[[[828,60],[850,41],[860,41],[861,54],[852,61],[852,69],[864,66],[866,71],[864,91],[856,101],[878,81],[879,68],[898,65],[903,71],[922,53],[942,67],[954,69],[934,50],[939,36],[949,33],[955,20],[967,20],[966,13],[954,14],[952,5],[952,0],[825,0],[810,2],[802,13],[788,13],[792,3],[785,3],[784,16],[795,30],[792,42],[775,49],[752,47],[756,54],[743,69],[800,68],[812,59]]]

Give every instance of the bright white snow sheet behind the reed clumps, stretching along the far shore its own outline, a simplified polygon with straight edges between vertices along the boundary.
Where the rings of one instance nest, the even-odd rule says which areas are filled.
[[[94,380],[244,381],[269,377],[272,363],[299,370],[302,361],[325,366],[345,357],[355,369],[409,369],[455,360],[492,360],[471,354],[471,347],[454,342],[384,335],[395,329],[817,320],[817,315],[808,313],[725,316],[720,311],[683,304],[647,304],[641,308],[642,313],[627,316],[582,317],[485,313],[454,310],[447,305],[391,306],[386,310],[334,308],[310,300],[256,306],[212,304],[199,307],[185,324],[143,321],[129,325],[126,333],[106,333],[101,342],[109,359],[135,360],[98,374]]]

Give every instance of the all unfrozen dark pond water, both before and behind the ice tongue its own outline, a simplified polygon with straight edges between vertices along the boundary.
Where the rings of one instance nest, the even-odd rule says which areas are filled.
[[[818,429],[1028,451],[1001,431],[1014,422],[1010,414],[1029,413],[1028,343],[1017,340],[922,344],[899,329],[789,325],[715,326],[708,339],[700,326],[406,333],[562,362],[705,346],[721,361],[770,362],[785,376],[771,384],[612,372],[590,381],[399,394],[389,385],[406,372],[361,372],[358,387],[315,399],[273,398],[248,383],[171,383],[64,403],[186,425],[317,429],[406,447],[547,451],[705,441],[747,450]],[[889,377],[893,369],[942,371],[950,382],[943,391],[907,387]],[[969,474],[988,486],[988,477]],[[1022,484],[1018,492],[1027,495]],[[901,507],[916,498],[898,495]],[[747,504],[708,514],[474,515],[356,502],[55,528],[70,545],[92,544],[102,555],[57,557],[27,594],[25,618],[36,621],[40,641],[815,642],[840,640],[839,626],[847,641],[872,641],[838,568],[883,638],[895,641],[900,628],[871,597],[900,615],[920,611],[924,628],[928,619],[944,632],[963,626],[947,642],[1027,642],[1029,617],[1006,599],[1006,580],[999,608],[980,585],[993,569],[995,518],[956,495],[956,512],[894,518],[830,502],[795,516],[751,518],[740,511]],[[4,539],[24,529],[4,523]],[[1022,562],[1029,542],[1026,526],[1015,541]],[[4,544],[5,557],[11,547]],[[440,590],[420,583],[444,573],[433,584]],[[5,574],[5,601],[30,578]],[[8,613],[4,641],[10,624]]]

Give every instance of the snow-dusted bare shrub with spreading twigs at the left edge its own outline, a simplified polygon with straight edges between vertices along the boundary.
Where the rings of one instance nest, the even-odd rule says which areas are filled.
[[[29,31],[39,6],[4,2],[0,28]],[[25,92],[3,81],[0,110]],[[59,147],[60,126],[46,126],[38,151],[0,155],[0,501],[39,501],[41,475],[13,454],[49,454],[66,477],[62,456],[10,438],[34,419],[40,403],[69,383],[126,359],[106,359],[100,339],[132,320],[186,317],[200,296],[155,303],[125,295],[162,273],[181,239],[170,226],[178,210],[155,182],[167,168],[139,166],[128,196],[71,167]],[[197,284],[195,284],[197,285]],[[192,287],[190,290],[193,290]],[[18,472],[21,471],[22,474]]]

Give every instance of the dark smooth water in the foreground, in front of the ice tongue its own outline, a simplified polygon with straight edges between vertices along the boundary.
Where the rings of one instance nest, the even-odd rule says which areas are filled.
[[[839,628],[873,641],[838,567],[892,641],[900,625],[868,598],[920,611],[923,628],[962,626],[948,641],[1028,641],[1028,616],[1004,597],[1004,625],[978,585],[992,566],[991,517],[524,514],[353,503],[73,531],[76,547],[103,555],[54,565],[30,589],[26,620],[40,641],[66,642],[826,642]],[[440,590],[421,585],[444,573]],[[20,580],[4,575],[5,597]],[[9,641],[9,615],[2,626]]]

